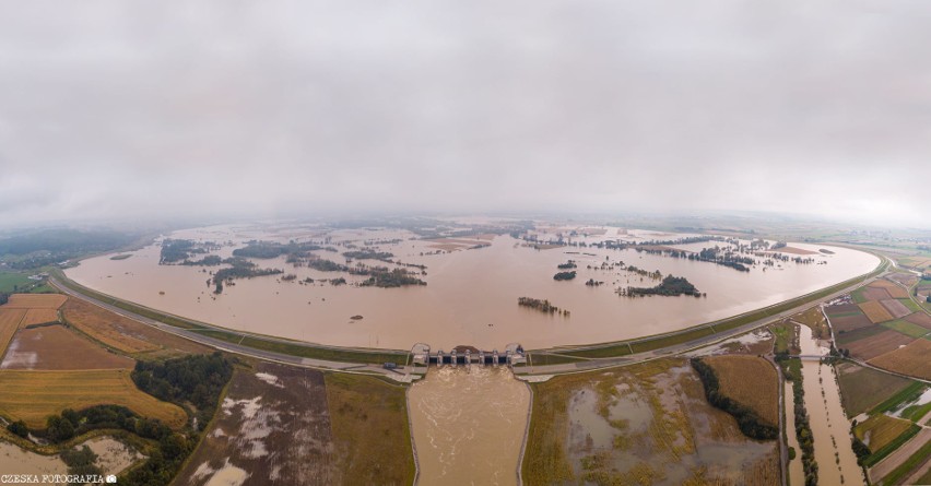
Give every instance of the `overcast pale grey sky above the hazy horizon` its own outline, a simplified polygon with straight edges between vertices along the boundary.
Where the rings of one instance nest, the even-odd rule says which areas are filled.
[[[929,25],[924,0],[0,0],[0,226],[739,210],[929,228]]]

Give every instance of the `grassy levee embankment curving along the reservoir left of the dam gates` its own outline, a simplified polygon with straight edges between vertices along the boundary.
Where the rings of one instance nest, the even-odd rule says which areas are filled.
[[[114,298],[109,295],[90,289],[81,284],[64,276],[60,270],[55,272],[55,277],[58,282],[79,294],[86,295],[102,303],[120,308],[128,312],[132,312],[144,318],[156,320],[168,324],[173,328],[184,329],[215,340],[224,341],[231,344],[248,346],[258,351],[270,353],[280,353],[290,356],[313,359],[326,359],[342,363],[366,363],[366,364],[382,364],[394,363],[404,365],[408,360],[408,352],[404,351],[364,351],[350,349],[343,347],[331,346],[314,346],[310,344],[300,343],[298,341],[290,341],[282,337],[264,336],[261,334],[244,333],[221,328],[204,322],[198,322],[191,319],[186,319],[179,316],[161,312],[150,307],[140,306],[126,300]]]

